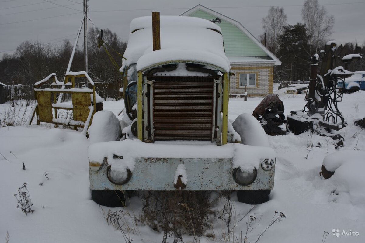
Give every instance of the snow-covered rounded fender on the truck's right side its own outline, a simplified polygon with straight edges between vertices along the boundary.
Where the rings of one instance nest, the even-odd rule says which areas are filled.
[[[242,113],[235,119],[232,126],[241,137],[242,144],[269,147],[265,130],[253,115]]]

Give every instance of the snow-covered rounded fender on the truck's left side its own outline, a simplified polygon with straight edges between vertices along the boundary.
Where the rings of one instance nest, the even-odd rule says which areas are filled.
[[[114,113],[108,110],[101,110],[94,114],[88,133],[90,144],[119,141],[122,135],[122,128]]]

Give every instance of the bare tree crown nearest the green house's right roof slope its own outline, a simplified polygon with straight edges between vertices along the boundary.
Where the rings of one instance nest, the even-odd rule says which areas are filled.
[[[271,6],[268,15],[262,18],[262,28],[266,32],[266,46],[275,55],[279,51],[280,35],[283,34],[284,26],[287,24],[287,15],[283,7]]]

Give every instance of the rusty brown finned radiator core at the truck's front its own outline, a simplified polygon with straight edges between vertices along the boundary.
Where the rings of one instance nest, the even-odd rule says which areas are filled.
[[[154,140],[211,141],[214,78],[156,79],[153,87]]]

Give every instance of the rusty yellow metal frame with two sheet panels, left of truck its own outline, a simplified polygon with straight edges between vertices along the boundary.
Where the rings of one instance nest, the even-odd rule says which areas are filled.
[[[82,91],[80,89],[75,89],[75,78],[86,78],[89,81],[89,77],[86,77],[85,74],[79,74],[79,75],[66,75],[64,82],[58,82],[56,75],[50,75],[48,79],[43,80],[41,83],[37,83],[34,85],[34,96],[37,99],[37,105],[35,107],[35,113],[37,114],[37,124],[41,124],[41,122],[46,122],[50,124],[55,124],[55,127],[58,125],[69,125],[73,126],[75,130],[77,128],[84,128],[84,133],[86,133],[86,130],[89,128],[92,122],[92,116],[95,114],[96,109],[96,96],[95,96],[95,85],[93,82],[90,82],[90,85],[92,89],[85,89],[85,91]],[[53,80],[51,83],[51,88],[42,88],[43,85],[45,85],[50,80]],[[69,82],[69,80],[71,82]],[[69,89],[58,89],[57,86],[64,86],[64,87],[70,87]],[[53,94],[53,100],[51,100],[51,94]],[[54,104],[57,103],[56,94],[70,94],[72,99],[72,107],[62,107],[62,106],[54,106]],[[92,95],[92,102],[90,95]],[[40,107],[43,105],[48,106],[48,102],[50,104],[51,109],[42,111]],[[85,105],[87,104],[87,105]],[[81,108],[78,108],[77,106],[81,106]],[[87,113],[83,112],[83,106],[87,106],[89,111]],[[52,114],[52,109],[54,111],[54,114]],[[76,120],[74,119],[74,122],[70,123],[63,123],[57,120],[57,110],[72,110],[74,117],[75,117],[75,111],[76,111],[76,117],[82,118],[83,121],[81,121],[83,124],[78,124]],[[33,116],[34,114],[32,114]],[[91,119],[88,119],[91,116]],[[52,118],[52,119],[50,119]],[[28,125],[30,125],[32,122],[32,119],[30,119],[30,122]]]

